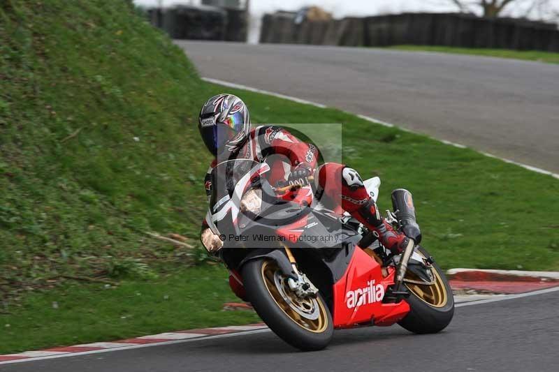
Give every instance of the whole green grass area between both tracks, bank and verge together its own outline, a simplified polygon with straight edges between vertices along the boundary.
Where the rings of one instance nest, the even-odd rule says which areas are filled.
[[[199,247],[144,234],[197,245],[210,156],[194,123],[224,90],[254,122],[343,123],[344,162],[382,177],[382,209],[391,189],[414,193],[442,267],[559,269],[557,179],[339,110],[206,84],[124,1],[3,1],[0,40],[0,352],[255,320],[220,311],[233,299],[226,272],[196,267]]]

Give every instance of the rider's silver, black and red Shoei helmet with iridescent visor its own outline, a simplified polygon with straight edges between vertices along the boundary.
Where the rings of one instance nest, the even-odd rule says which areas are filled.
[[[202,107],[198,130],[205,147],[215,156],[236,151],[250,133],[247,105],[233,94],[218,94]]]

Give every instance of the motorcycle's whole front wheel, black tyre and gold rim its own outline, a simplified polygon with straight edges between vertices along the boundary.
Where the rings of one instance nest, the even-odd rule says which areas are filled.
[[[301,299],[289,289],[274,260],[247,262],[241,271],[247,297],[266,325],[294,347],[310,351],[326,348],[334,327],[324,298]]]

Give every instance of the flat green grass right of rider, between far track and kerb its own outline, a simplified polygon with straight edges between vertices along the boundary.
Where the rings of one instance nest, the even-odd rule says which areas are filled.
[[[227,91],[258,122],[343,123],[344,163],[381,177],[382,210],[394,188],[412,191],[422,243],[442,267],[559,269],[557,179],[339,110]]]

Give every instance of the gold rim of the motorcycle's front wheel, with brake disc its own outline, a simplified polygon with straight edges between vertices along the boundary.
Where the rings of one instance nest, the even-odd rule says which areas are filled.
[[[289,289],[285,278],[278,281],[279,267],[273,261],[262,265],[262,279],[266,289],[282,311],[299,327],[321,333],[328,327],[326,308],[320,297],[301,299]]]

